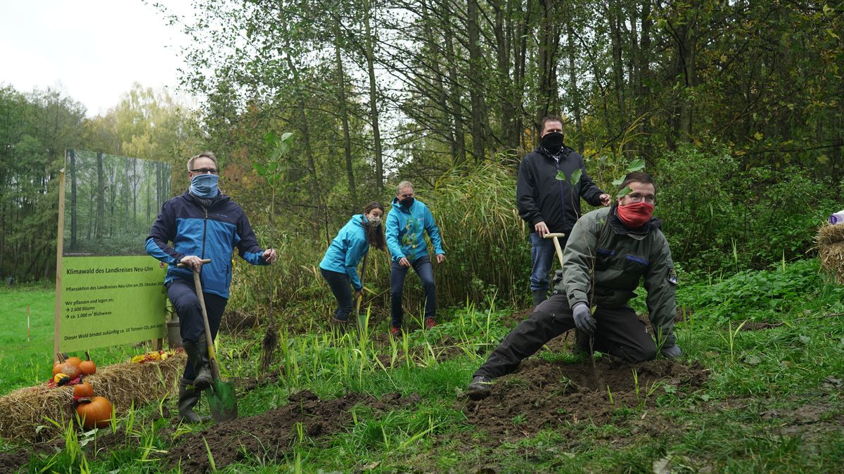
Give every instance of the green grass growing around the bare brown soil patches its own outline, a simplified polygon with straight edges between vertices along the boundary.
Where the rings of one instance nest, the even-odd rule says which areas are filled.
[[[9,294],[14,299],[6,298]],[[28,345],[14,340],[19,327],[0,328],[0,341],[8,348],[3,361],[12,368],[8,376],[16,380],[7,384],[40,381],[44,376],[39,371],[49,369],[51,291],[6,290],[2,296],[4,315],[13,314],[21,301],[40,308],[38,331],[43,340],[41,346]],[[500,323],[500,315],[509,310],[446,310],[433,331],[410,331],[386,346],[374,342],[372,334],[341,341],[323,331],[285,335],[274,367],[283,367],[284,374],[276,383],[241,396],[241,417],[284,406],[292,393],[303,389],[323,398],[347,392],[379,397],[398,391],[418,394],[421,401],[390,412],[355,407],[346,428],[337,434],[315,439],[297,434],[293,448],[279,460],[271,461],[277,447],[267,446],[263,455],[250,453],[222,471],[475,472],[489,467],[497,472],[652,472],[663,464],[672,472],[841,471],[842,296],[844,290],[827,283],[814,260],[681,285],[678,300],[688,314],[677,330],[682,361],[708,369],[706,385],[691,392],[660,387],[649,394],[657,407],[619,406],[612,423],[568,423],[503,444],[491,444],[487,434],[466,422],[465,401],[457,394],[492,345],[509,331]],[[751,322],[772,327],[744,331]],[[444,336],[445,347],[439,344]],[[260,345],[255,343],[260,337],[262,331],[225,337],[221,357],[228,375],[260,374]],[[452,357],[437,361],[445,351]],[[111,357],[117,358],[117,353]],[[541,357],[566,361],[569,356]],[[45,364],[39,365],[37,358]],[[29,362],[15,362],[18,359]],[[513,377],[505,386],[520,383],[525,382]],[[173,401],[167,403],[175,409]],[[117,426],[123,441],[115,449],[94,457],[76,444],[84,442],[89,448],[95,434],[68,435],[63,450],[35,455],[26,470],[160,471],[162,466],[154,461],[159,451],[178,443],[185,432],[166,430],[166,419],[152,421],[156,410],[140,407],[122,417]],[[512,413],[506,419],[518,427],[526,417]],[[0,452],[13,448],[0,443]]]

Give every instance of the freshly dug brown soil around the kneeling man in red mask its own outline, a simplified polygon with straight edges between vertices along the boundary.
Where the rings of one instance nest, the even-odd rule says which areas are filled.
[[[468,423],[498,444],[533,436],[542,428],[608,423],[619,408],[654,407],[664,387],[673,386],[678,393],[694,391],[707,376],[699,364],[671,360],[629,364],[603,356],[593,368],[588,359],[577,364],[530,359],[514,374],[496,380],[489,397],[468,401],[463,412]]]

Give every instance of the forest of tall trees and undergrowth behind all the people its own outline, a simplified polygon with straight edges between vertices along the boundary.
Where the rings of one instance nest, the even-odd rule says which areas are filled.
[[[604,189],[645,160],[693,277],[801,258],[844,207],[841,4],[192,5],[191,19],[158,8],[193,35],[195,110],[137,86],[87,119],[62,94],[0,89],[0,276],[51,280],[64,148],[172,164],[173,192],[185,160],[214,150],[224,191],[292,262],[251,283],[294,303],[325,293],[312,268],[349,214],[402,179],[443,230],[442,304],[522,299],[515,172],[549,114]],[[384,284],[385,265],[368,272]]]

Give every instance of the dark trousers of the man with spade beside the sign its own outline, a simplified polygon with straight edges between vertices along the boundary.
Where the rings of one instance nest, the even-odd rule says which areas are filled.
[[[199,305],[197,290],[192,281],[176,278],[167,284],[167,296],[173,302],[176,314],[179,315],[179,329],[183,342],[196,343],[200,336],[205,335],[205,323],[203,322],[203,309]],[[211,337],[217,337],[219,322],[223,319],[223,311],[228,299],[217,294],[203,292],[205,310],[208,312],[208,326],[211,327]],[[188,361],[185,366],[185,379],[193,380],[193,366]]]

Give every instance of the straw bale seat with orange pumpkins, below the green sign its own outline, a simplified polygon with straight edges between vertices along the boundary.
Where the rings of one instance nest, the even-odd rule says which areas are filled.
[[[98,367],[85,381],[94,387],[95,396],[108,398],[120,416],[133,403],[141,407],[175,395],[186,361],[187,355],[179,351],[163,361],[107,365]],[[0,397],[0,437],[30,442],[51,439],[59,430],[46,418],[65,425],[73,420],[72,405],[72,385],[37,385],[13,391]]]

